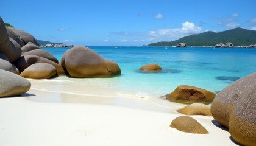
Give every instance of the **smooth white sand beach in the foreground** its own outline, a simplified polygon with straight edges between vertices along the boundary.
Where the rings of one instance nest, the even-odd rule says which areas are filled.
[[[30,82],[26,94],[0,99],[0,145],[236,145],[213,117],[191,116],[208,134],[169,127],[182,104],[68,79]]]

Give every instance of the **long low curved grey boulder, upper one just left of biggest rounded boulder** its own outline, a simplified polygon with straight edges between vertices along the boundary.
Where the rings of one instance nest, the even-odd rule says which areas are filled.
[[[59,63],[59,61],[56,57],[54,57],[54,55],[42,49],[30,50],[29,52],[25,52],[23,56],[24,55],[37,55],[39,57],[47,58],[48,60],[54,61],[55,63]]]

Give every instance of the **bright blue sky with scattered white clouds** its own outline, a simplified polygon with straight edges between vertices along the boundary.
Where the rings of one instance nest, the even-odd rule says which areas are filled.
[[[255,0],[8,0],[0,16],[38,40],[141,46],[208,30],[256,30],[255,6]]]

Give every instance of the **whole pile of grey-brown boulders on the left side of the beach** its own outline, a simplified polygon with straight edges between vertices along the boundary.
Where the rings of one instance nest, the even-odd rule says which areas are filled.
[[[54,46],[53,46],[54,47]],[[60,44],[55,47],[73,47]],[[48,79],[57,75],[75,78],[113,77],[121,74],[118,64],[93,50],[76,46],[59,63],[39,47],[34,36],[14,27],[5,27],[0,17],[0,97],[19,96],[30,89],[26,78]]]

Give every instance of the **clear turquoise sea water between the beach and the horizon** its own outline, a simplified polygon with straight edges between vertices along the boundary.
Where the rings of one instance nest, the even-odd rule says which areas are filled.
[[[256,49],[215,49],[201,47],[89,47],[119,64],[122,75],[113,78],[84,78],[80,82],[105,84],[119,92],[159,97],[179,85],[191,85],[218,93],[238,77],[256,72]],[[58,60],[69,48],[43,48]],[[145,74],[144,64],[157,63],[178,72]],[[230,80],[217,79],[216,77]]]

